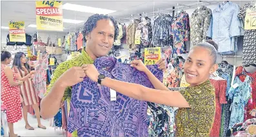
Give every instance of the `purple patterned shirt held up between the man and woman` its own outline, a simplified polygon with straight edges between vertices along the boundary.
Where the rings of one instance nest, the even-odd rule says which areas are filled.
[[[120,81],[153,88],[144,72],[119,63],[115,58],[102,57],[94,62],[100,74]],[[148,66],[162,81],[157,65]],[[110,89],[97,86],[88,77],[73,86],[68,118],[68,131],[78,136],[148,136],[147,102],[117,92],[117,101],[110,101]]]

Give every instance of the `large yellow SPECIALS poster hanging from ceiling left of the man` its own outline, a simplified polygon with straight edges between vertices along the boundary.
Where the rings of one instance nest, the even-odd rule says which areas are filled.
[[[63,31],[62,5],[62,1],[35,1],[37,29]]]

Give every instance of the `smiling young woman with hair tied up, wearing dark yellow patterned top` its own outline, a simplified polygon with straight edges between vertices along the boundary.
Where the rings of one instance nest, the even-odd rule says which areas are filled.
[[[179,107],[175,116],[176,136],[210,136],[215,117],[215,89],[209,78],[218,68],[216,59],[217,44],[212,40],[193,47],[183,66],[186,81],[190,86],[179,92],[168,91],[139,60],[132,61],[131,66],[145,72],[158,90],[108,77],[102,79],[101,85],[134,99]],[[99,72],[94,65],[86,65],[84,70],[92,81],[98,81]]]

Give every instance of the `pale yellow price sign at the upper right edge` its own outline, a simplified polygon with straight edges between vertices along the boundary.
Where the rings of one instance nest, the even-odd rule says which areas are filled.
[[[256,10],[250,8],[246,10],[244,29],[256,29]]]

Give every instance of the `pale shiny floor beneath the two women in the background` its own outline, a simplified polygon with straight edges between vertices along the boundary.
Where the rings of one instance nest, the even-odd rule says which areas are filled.
[[[66,136],[66,133],[62,129],[54,129],[54,127],[50,127],[49,120],[43,120],[41,118],[41,123],[46,126],[46,129],[40,129],[37,127],[37,119],[35,116],[28,114],[28,122],[34,127],[34,131],[29,131],[25,129],[25,121],[24,119],[14,124],[14,132],[19,136]]]

